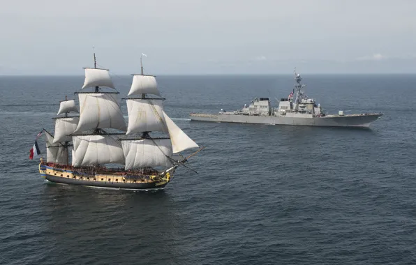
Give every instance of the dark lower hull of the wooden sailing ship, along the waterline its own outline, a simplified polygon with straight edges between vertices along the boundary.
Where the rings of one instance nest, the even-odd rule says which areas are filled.
[[[154,188],[163,188],[168,183],[122,183],[115,181],[94,181],[94,180],[84,180],[84,179],[71,179],[64,178],[61,176],[52,176],[47,174],[45,179],[54,183],[70,184],[70,185],[82,185],[82,186],[91,186],[97,188],[116,188],[116,189],[126,189],[126,190],[149,190]],[[158,184],[158,185],[157,185]]]

